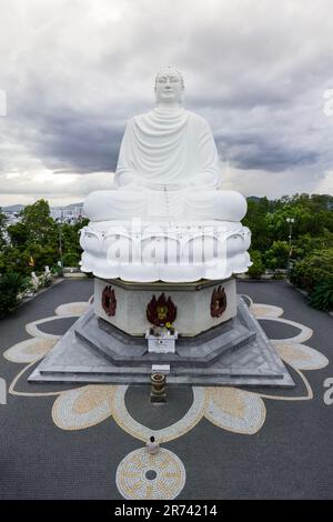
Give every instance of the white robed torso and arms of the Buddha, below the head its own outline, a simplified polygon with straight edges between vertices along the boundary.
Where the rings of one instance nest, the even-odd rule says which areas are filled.
[[[179,109],[157,107],[127,126],[114,183],[149,189],[220,184],[216,145],[208,122]]]

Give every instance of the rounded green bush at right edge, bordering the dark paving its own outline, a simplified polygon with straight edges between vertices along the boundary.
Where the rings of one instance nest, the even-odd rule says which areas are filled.
[[[333,249],[314,251],[293,265],[291,282],[311,293],[316,284],[331,279],[332,271]]]

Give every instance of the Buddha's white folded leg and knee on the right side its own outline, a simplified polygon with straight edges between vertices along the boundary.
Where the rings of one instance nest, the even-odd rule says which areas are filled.
[[[190,190],[185,203],[188,219],[241,221],[246,209],[245,198],[233,190]]]

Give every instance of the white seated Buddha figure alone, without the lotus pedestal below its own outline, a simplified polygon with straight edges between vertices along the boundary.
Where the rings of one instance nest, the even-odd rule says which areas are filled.
[[[89,195],[88,218],[240,221],[245,215],[241,194],[218,190],[221,169],[212,131],[183,108],[183,92],[180,72],[168,68],[158,73],[157,106],[128,122],[113,190]]]

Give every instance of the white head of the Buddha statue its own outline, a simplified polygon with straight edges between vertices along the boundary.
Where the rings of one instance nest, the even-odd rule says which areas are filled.
[[[181,103],[184,92],[184,79],[182,74],[168,67],[157,74],[155,97],[157,103]]]

